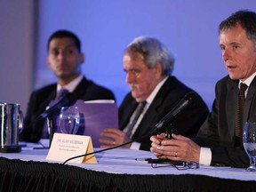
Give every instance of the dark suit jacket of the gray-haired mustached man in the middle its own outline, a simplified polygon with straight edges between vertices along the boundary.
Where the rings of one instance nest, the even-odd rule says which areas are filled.
[[[132,139],[136,140],[147,135],[152,130],[152,127],[174,108],[188,92],[192,92],[192,90],[174,76],[169,76],[159,92],[157,92],[156,98],[149,106],[145,116],[143,116]],[[132,98],[131,92],[129,92],[119,108],[119,128],[121,130],[124,130],[126,124],[128,124],[137,105],[138,103]],[[172,122],[173,132],[189,138],[194,137],[207,115],[208,108],[196,93],[193,104],[174,118]],[[140,149],[150,149],[151,141],[149,138],[148,136],[140,140]]]

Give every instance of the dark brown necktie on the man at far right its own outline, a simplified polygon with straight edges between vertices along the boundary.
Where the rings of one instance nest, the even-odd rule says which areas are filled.
[[[236,103],[236,138],[238,138],[236,146],[241,146],[243,143],[243,116],[244,116],[244,102],[245,102],[245,96],[244,92],[248,86],[246,84],[241,83],[240,89],[238,92],[238,100]]]

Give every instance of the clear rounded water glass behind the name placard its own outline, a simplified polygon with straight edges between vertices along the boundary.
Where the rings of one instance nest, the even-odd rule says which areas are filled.
[[[79,111],[76,106],[62,107],[60,110],[60,132],[76,134],[80,124]]]

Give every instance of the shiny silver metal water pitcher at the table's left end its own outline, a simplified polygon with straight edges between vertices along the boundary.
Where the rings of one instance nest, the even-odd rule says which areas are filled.
[[[20,152],[19,134],[22,128],[20,104],[0,103],[0,152]]]

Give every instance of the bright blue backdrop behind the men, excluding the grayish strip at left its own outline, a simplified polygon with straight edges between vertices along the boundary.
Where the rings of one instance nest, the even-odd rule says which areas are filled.
[[[110,88],[120,105],[129,91],[122,65],[134,37],[154,36],[174,53],[173,76],[199,92],[211,108],[214,85],[228,73],[221,60],[218,25],[240,9],[256,11],[254,0],[54,0],[38,4],[34,89],[55,80],[46,65],[46,42],[57,29],[80,36],[83,73]]]

